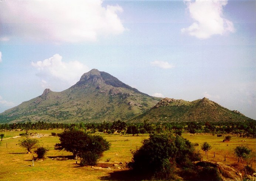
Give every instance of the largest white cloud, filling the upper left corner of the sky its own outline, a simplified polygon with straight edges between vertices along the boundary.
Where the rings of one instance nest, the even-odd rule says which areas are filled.
[[[120,6],[104,7],[102,0],[0,1],[0,31],[5,37],[37,41],[94,41],[124,31],[117,14],[122,11]]]

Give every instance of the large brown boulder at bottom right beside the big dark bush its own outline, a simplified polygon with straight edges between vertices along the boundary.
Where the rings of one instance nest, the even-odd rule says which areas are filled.
[[[198,180],[241,181],[242,173],[221,162],[193,162],[198,168]]]

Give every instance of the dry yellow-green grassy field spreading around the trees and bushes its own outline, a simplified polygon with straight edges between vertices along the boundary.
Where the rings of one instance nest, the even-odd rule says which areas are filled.
[[[30,131],[37,134],[44,135],[41,138],[35,138],[40,141],[40,145],[44,145],[50,149],[47,156],[51,158],[61,157],[65,158],[72,155],[69,152],[54,150],[55,143],[59,142],[58,137],[50,136],[51,132],[59,133],[61,130],[42,130]],[[24,181],[40,181],[40,180],[113,180],[108,177],[113,171],[121,171],[126,162],[132,159],[131,150],[135,150],[141,146],[143,139],[149,138],[148,135],[106,135],[102,134],[104,138],[111,143],[110,150],[104,152],[103,157],[99,160],[98,167],[79,167],[75,164],[75,160],[56,160],[45,159],[41,162],[34,162],[33,155],[27,154],[26,149],[17,145],[18,140],[23,137],[16,137],[21,131],[1,132],[5,134],[2,144],[0,146],[0,180],[24,180]],[[200,149],[203,142],[208,142],[212,149],[208,152],[209,161],[218,161],[225,164],[237,163],[233,150],[238,145],[248,145],[253,149],[254,157],[248,160],[249,164],[255,168],[255,152],[256,140],[252,138],[240,138],[232,136],[230,142],[222,142],[222,137],[212,135],[190,135],[183,134],[184,138],[189,139],[193,143],[199,143],[196,149],[202,153],[203,159],[207,160],[205,153]],[[14,138],[13,138],[14,137]],[[245,140],[245,141],[244,141]],[[215,157],[214,157],[215,152]],[[226,155],[226,161],[224,161]],[[109,162],[106,162],[110,160]],[[113,166],[114,163],[122,162],[123,164],[118,168]],[[100,168],[100,167],[103,168]],[[124,168],[125,169],[125,168]]]

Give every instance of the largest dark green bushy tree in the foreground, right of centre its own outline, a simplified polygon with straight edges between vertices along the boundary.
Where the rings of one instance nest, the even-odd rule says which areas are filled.
[[[175,166],[185,167],[187,162],[199,158],[187,139],[171,134],[153,134],[143,141],[140,149],[133,152],[130,166],[137,174],[148,178],[173,179]]]

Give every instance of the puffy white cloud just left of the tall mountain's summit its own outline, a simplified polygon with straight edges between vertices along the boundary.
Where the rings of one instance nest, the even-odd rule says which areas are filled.
[[[41,78],[43,88],[58,86],[54,85],[56,82],[66,86],[74,85],[83,73],[89,71],[89,68],[79,61],[62,61],[62,56],[59,54],[43,61],[32,62],[31,65],[39,71],[37,75]]]

